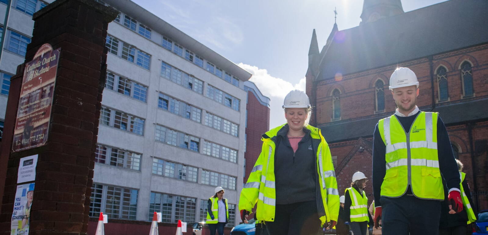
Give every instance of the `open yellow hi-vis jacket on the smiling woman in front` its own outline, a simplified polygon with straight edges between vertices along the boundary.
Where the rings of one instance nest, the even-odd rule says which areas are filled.
[[[239,210],[251,212],[256,207],[256,217],[258,220],[274,221],[276,208],[275,174],[274,174],[274,155],[275,143],[271,139],[276,136],[284,125],[278,126],[266,132],[263,137],[261,154],[256,160],[251,174],[241,191],[239,199]],[[307,125],[305,128],[310,130],[310,136],[320,139],[321,142],[316,153],[317,180],[320,184],[320,193],[324,205],[325,215],[320,217],[324,224],[330,220],[337,221],[339,215],[339,190],[335,177],[334,165],[330,155],[330,149],[322,136],[320,129]]]

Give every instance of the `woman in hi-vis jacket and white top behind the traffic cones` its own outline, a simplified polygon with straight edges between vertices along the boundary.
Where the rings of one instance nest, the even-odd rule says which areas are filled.
[[[219,235],[224,235],[225,224],[229,222],[229,205],[224,198],[224,189],[215,188],[215,195],[208,198],[207,203],[207,221],[210,235],[215,235],[217,230]]]

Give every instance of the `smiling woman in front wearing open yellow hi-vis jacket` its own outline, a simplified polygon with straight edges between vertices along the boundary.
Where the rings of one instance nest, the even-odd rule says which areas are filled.
[[[332,157],[320,129],[308,125],[311,106],[303,91],[285,97],[286,123],[263,135],[263,147],[239,200],[245,222],[256,218],[270,235],[316,235],[334,227],[339,191]]]

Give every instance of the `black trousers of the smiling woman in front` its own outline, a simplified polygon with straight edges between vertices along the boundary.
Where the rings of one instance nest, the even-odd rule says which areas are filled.
[[[266,221],[269,235],[317,235],[321,231],[315,201],[276,205],[275,220]]]

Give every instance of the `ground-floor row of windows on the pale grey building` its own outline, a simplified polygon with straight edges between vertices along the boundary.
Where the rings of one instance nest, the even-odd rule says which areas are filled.
[[[97,217],[103,212],[113,219],[136,219],[139,190],[122,188],[94,183],[90,197],[90,213]],[[177,223],[182,221],[195,221],[197,212],[197,198],[176,196],[151,192],[149,199],[148,221],[152,220],[154,212],[162,213],[162,222]],[[208,199],[200,199],[199,221],[205,221]],[[236,205],[229,205],[229,227],[234,226]]]

